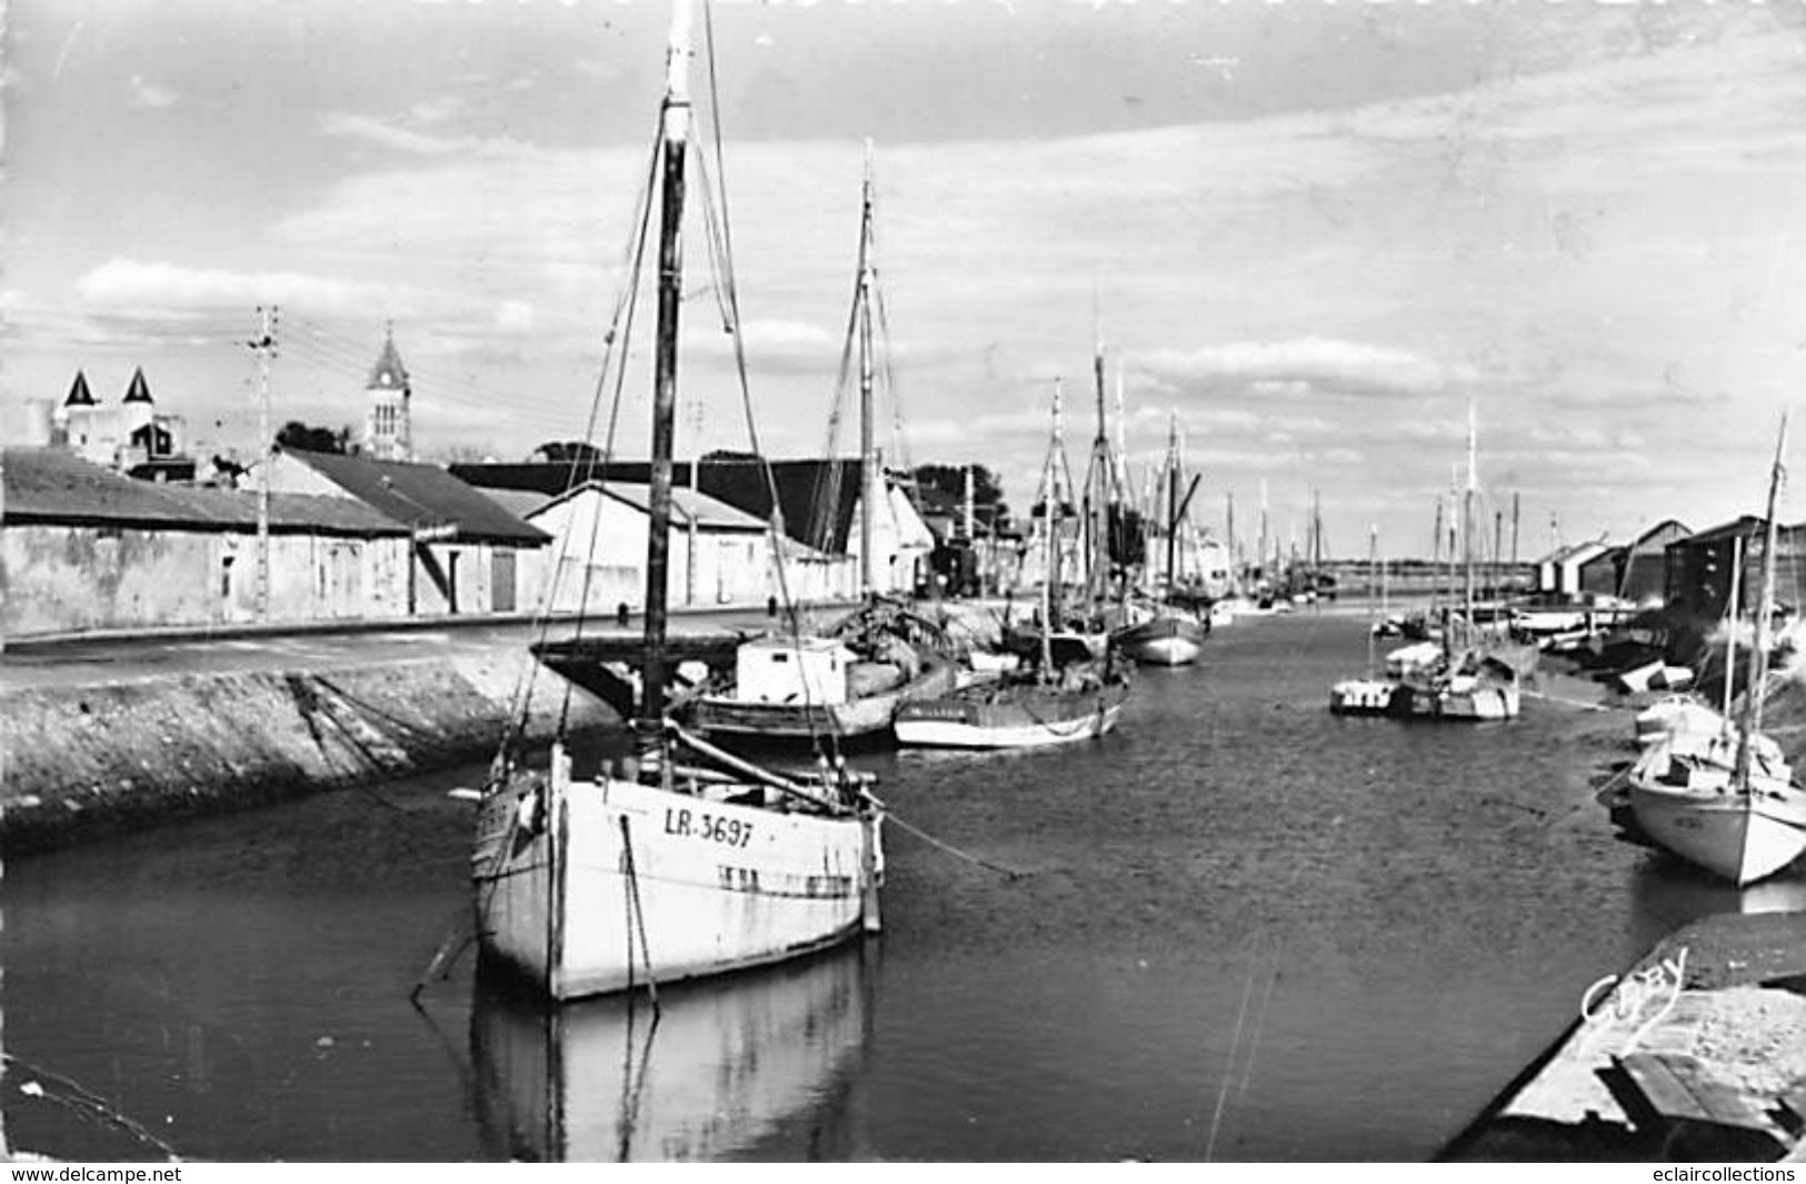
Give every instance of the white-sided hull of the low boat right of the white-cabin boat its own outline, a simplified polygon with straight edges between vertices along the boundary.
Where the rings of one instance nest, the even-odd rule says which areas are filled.
[[[948,696],[898,712],[898,743],[910,748],[1046,748],[1094,739],[1116,727],[1127,689],[1019,687],[990,696]]]

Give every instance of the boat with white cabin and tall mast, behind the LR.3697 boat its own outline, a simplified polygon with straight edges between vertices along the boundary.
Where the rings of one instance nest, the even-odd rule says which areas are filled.
[[[704,736],[775,741],[876,738],[889,732],[899,705],[946,694],[959,681],[945,631],[910,613],[901,602],[880,598],[876,591],[876,517],[889,493],[872,439],[872,155],[867,143],[860,268],[849,324],[849,333],[858,340],[860,360],[861,607],[822,636],[778,634],[742,644],[735,654],[731,683],[701,694],[695,701],[692,723]],[[829,501],[838,501],[838,488]]]

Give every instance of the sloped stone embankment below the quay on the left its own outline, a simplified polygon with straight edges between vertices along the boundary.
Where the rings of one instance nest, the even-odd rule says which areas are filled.
[[[0,848],[42,850],[484,759],[518,672],[500,656],[457,656],[7,691]],[[562,680],[540,674],[529,739],[556,727],[560,691]],[[614,719],[573,696],[573,728]]]

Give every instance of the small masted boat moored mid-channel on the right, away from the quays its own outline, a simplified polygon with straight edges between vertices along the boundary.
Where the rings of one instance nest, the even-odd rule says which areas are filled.
[[[1427,719],[1512,719],[1517,716],[1519,660],[1535,651],[1506,649],[1494,638],[1479,634],[1474,624],[1474,495],[1476,483],[1476,425],[1474,405],[1468,403],[1468,470],[1466,497],[1461,512],[1461,550],[1465,568],[1465,611],[1454,611],[1443,620],[1443,653],[1432,665],[1405,671],[1400,683],[1403,712]],[[1454,557],[1454,544],[1448,550]],[[1456,624],[1459,622],[1459,629]],[[1456,649],[1456,634],[1461,647]],[[1398,656],[1398,654],[1394,654]]]

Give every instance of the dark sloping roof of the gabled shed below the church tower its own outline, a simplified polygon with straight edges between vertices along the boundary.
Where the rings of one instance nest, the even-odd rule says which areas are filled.
[[[542,546],[549,540],[545,531],[522,522],[482,490],[459,481],[437,465],[374,461],[300,448],[284,448],[284,454],[414,530],[437,530],[448,539],[464,542]]]

